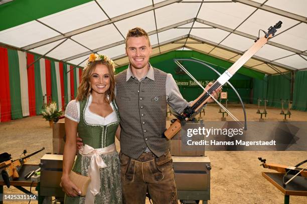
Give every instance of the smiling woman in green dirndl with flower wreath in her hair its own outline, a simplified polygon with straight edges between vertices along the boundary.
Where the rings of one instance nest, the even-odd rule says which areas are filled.
[[[83,69],[76,100],[70,101],[65,111],[61,180],[65,203],[122,202],[120,165],[114,143],[115,132],[120,132],[114,87],[114,62],[107,56],[91,54]],[[84,146],[74,163],[77,132]],[[80,196],[80,189],[70,180],[71,170],[91,177],[85,197]]]

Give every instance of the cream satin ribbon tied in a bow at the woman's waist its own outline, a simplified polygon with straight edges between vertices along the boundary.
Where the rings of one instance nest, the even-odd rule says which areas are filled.
[[[108,154],[116,151],[115,143],[112,143],[104,148],[94,149],[93,147],[85,144],[79,149],[82,156],[91,156],[90,165],[88,167],[88,176],[91,177],[91,182],[85,196],[85,204],[92,204],[95,200],[95,195],[100,192],[100,168],[107,167],[101,154]]]

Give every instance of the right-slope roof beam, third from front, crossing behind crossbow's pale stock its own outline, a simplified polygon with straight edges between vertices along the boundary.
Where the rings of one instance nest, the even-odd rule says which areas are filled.
[[[213,45],[213,46],[216,46],[216,47],[219,47],[219,48],[222,48],[222,49],[226,49],[226,50],[229,50],[229,51],[232,51],[232,52],[235,52],[237,54],[244,54],[243,51],[241,50],[238,50],[238,49],[234,49],[234,48],[231,48],[231,47],[228,47],[228,46],[225,46],[225,45],[222,45],[222,44],[218,44],[216,42],[212,42],[212,41],[209,41],[209,40],[206,40],[206,39],[203,39],[201,37],[198,37],[198,36],[194,36],[194,35],[190,35],[189,36],[191,39],[195,39],[195,40],[198,40],[198,41],[201,41],[201,42],[204,42],[204,43],[207,43],[207,44],[210,44],[210,45]],[[285,65],[285,64],[281,64],[281,63],[278,63],[276,61],[270,61],[268,59],[265,59],[265,58],[262,58],[262,57],[259,57],[259,56],[253,56],[252,58],[254,59],[257,59],[259,61],[263,61],[263,62],[266,62],[266,63],[270,63],[270,64],[273,64],[273,65],[276,65],[276,66],[281,66],[287,70],[297,70],[296,68],[294,67],[291,67],[291,66],[288,66],[288,65]],[[227,59],[226,59],[227,60]]]

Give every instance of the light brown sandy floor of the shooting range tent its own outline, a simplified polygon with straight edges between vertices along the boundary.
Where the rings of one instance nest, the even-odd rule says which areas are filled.
[[[239,120],[243,119],[240,104],[228,104],[229,110],[235,114]],[[209,104],[205,108],[206,120],[219,121],[221,114],[218,113],[219,106]],[[246,104],[247,118],[249,121],[258,121],[259,114],[257,104]],[[266,120],[282,120],[280,108],[267,107]],[[307,112],[291,110],[291,121],[307,121]],[[197,115],[199,116],[199,115]],[[226,116],[226,115],[225,115]],[[174,118],[173,115],[169,118]],[[226,116],[227,120],[231,117]],[[170,120],[167,121],[167,125]],[[52,152],[52,128],[41,116],[25,117],[23,119],[12,120],[0,123],[1,132],[1,152],[9,152],[12,158],[19,157],[23,149],[28,152],[40,149],[45,146],[45,150],[32,156],[29,164],[38,164],[40,158],[47,152]],[[117,150],[119,142],[116,141]],[[264,169],[259,165],[258,157],[266,158],[267,161],[284,165],[295,165],[302,158],[307,157],[305,151],[205,151],[205,155],[211,160],[211,200],[210,204],[225,203],[283,203],[283,194],[272,184],[261,176],[262,171],[276,172]],[[30,190],[30,187],[25,187]],[[34,189],[32,188],[32,191]],[[5,193],[21,193],[15,187],[4,187]],[[307,200],[303,196],[291,196],[290,203],[305,203]],[[34,201],[32,201],[34,203]],[[31,203],[32,203],[31,202]],[[13,203],[13,202],[12,202]],[[14,202],[17,204],[25,203]],[[149,204],[149,201],[146,201]]]

